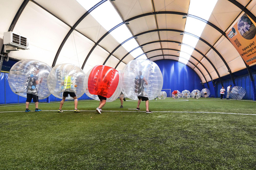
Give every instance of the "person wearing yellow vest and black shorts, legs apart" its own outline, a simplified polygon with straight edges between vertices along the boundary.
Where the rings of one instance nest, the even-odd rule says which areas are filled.
[[[74,89],[71,89],[71,76],[65,77],[64,82],[63,82],[63,88],[65,89],[65,91],[63,92],[63,98],[60,102],[60,108],[59,108],[58,112],[63,112],[61,109],[62,109],[64,101],[66,100],[66,97],[68,97],[68,95],[70,95],[70,97],[73,97],[73,99],[74,99],[74,105],[75,105],[74,112],[80,112],[80,110],[77,109],[78,100],[76,97],[76,93],[70,92],[70,91],[75,91]]]

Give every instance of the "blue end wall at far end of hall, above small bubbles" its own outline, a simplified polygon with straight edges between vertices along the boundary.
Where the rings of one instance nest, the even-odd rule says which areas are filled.
[[[173,90],[192,92],[195,89],[201,91],[204,88],[200,83],[199,76],[189,66],[174,60],[157,60],[154,62],[163,74],[163,89],[171,89],[171,92]]]

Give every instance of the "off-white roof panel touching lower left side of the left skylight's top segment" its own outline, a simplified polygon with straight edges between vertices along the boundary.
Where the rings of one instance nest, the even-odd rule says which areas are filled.
[[[97,42],[107,31],[89,14],[76,27],[76,30]]]

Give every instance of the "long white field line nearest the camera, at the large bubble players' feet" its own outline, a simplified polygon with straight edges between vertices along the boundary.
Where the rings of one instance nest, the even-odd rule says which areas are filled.
[[[41,112],[50,112],[54,111],[57,112],[57,110],[44,110]],[[63,110],[63,111],[73,111],[74,110]],[[9,111],[9,112],[0,112],[0,113],[14,113],[14,112],[25,112],[25,111]],[[35,112],[35,111],[31,111]],[[81,112],[96,112],[95,110],[81,110]],[[102,111],[102,112],[144,112],[145,111]],[[213,113],[213,114],[231,114],[231,115],[253,115],[256,116],[256,114],[244,114],[244,113],[225,113],[225,112],[189,112],[189,111],[184,111],[184,112],[171,112],[171,111],[154,111],[153,113]]]

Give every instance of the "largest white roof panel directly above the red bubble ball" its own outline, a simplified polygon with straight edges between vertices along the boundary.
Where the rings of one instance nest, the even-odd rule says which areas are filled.
[[[106,50],[97,45],[95,49],[92,51],[86,64],[90,66],[102,65],[104,61],[107,59],[108,55],[109,53]]]

